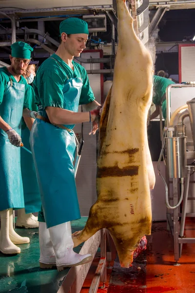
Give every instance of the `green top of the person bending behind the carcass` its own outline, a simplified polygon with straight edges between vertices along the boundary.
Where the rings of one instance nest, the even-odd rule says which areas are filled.
[[[165,100],[164,94],[166,93],[167,86],[175,83],[165,77],[154,75],[153,84],[153,103],[160,106]]]

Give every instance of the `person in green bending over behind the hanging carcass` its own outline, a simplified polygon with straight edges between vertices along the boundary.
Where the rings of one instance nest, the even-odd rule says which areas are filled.
[[[169,84],[175,84],[171,80],[154,75],[153,81],[153,103],[156,110],[150,115],[149,120],[155,119],[160,113],[160,106],[162,107],[162,116],[164,119],[167,117],[167,103],[166,103],[166,89]]]

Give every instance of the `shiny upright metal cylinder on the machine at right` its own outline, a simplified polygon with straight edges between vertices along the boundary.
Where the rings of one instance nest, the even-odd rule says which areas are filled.
[[[186,177],[186,137],[167,137],[166,140],[169,178]]]

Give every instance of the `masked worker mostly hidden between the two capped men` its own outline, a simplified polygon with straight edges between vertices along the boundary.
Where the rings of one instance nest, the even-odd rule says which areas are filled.
[[[35,92],[31,84],[36,76],[35,68],[39,61],[30,61],[26,71],[22,76],[29,84],[29,92],[31,101],[29,101],[30,110],[36,114],[38,106],[35,104]],[[24,146],[31,151],[30,147],[30,130],[25,124],[22,118],[21,124],[21,139]],[[24,209],[18,210],[18,217],[16,226],[25,228],[38,228],[38,217],[33,215],[33,212],[39,212],[41,208],[39,186],[37,182],[37,175],[35,171],[35,165],[33,162],[32,154],[27,152],[24,148],[21,148],[21,176],[24,191]]]

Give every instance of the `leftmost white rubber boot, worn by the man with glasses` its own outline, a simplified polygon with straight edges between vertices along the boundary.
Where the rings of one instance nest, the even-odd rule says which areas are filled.
[[[9,238],[9,209],[0,211],[0,252],[4,254],[20,253],[20,247],[12,243]]]

